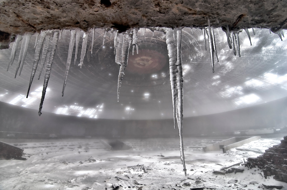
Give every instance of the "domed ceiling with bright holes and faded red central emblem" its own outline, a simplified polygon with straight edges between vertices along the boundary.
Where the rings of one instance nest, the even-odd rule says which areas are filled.
[[[226,34],[214,29],[219,62],[212,73],[209,48],[205,50],[201,29],[182,30],[183,115],[184,117],[213,114],[252,106],[287,96],[287,37],[280,40],[268,29],[255,29],[250,45],[245,31],[239,34],[241,57],[229,49]],[[103,29],[96,29],[92,48],[92,33],[88,34],[87,52],[80,69],[81,32],[77,61],[73,60],[65,93],[62,97],[70,30],[63,30],[54,57],[43,111],[58,114],[109,119],[172,118],[172,96],[169,81],[168,52],[164,33],[149,29],[138,32],[139,54],[132,55],[121,85],[117,103],[119,66],[115,63],[114,33],[107,33],[103,45]],[[0,101],[38,109],[44,74],[40,80],[37,69],[30,97],[26,98],[33,65],[36,35],[29,44],[21,76],[14,78],[16,59],[7,72],[11,47],[0,50]],[[208,39],[206,39],[208,46]],[[74,47],[75,48],[75,47]],[[40,59],[41,62],[41,59]],[[35,112],[36,114],[36,112]]]

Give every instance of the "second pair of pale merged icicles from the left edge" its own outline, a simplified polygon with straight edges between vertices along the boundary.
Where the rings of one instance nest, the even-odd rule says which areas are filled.
[[[16,78],[19,68],[20,68],[19,76],[21,75],[31,37],[32,37],[32,33],[26,33],[23,37],[19,59],[18,59],[18,67],[16,68],[16,72],[15,72],[15,78]]]

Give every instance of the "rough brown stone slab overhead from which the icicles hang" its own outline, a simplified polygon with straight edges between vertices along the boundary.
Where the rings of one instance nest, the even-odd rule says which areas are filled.
[[[80,27],[285,27],[287,0],[1,0],[0,31]]]

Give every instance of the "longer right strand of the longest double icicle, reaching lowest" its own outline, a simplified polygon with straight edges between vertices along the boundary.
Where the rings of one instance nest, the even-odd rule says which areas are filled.
[[[177,28],[177,91],[178,91],[178,102],[177,102],[177,126],[179,128],[179,145],[180,155],[183,164],[183,171],[186,176],[186,167],[183,152],[183,136],[182,136],[182,124],[183,124],[183,74],[181,64],[181,27]]]

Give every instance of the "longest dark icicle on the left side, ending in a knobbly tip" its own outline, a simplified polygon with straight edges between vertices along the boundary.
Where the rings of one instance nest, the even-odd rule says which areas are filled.
[[[41,110],[42,110],[42,106],[43,106],[43,102],[44,102],[44,98],[45,98],[45,94],[46,94],[46,89],[48,86],[48,82],[49,82],[49,78],[50,78],[50,74],[51,74],[51,70],[52,70],[52,64],[53,64],[53,59],[54,59],[54,55],[55,55],[55,51],[56,51],[56,47],[57,47],[58,36],[59,36],[59,32],[55,31],[53,38],[52,38],[52,41],[49,44],[48,61],[46,64],[45,79],[44,79],[42,97],[41,97],[41,102],[40,102],[39,112],[38,112],[39,116],[41,116],[41,114],[42,114]]]

